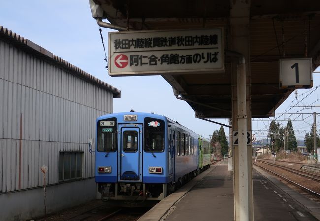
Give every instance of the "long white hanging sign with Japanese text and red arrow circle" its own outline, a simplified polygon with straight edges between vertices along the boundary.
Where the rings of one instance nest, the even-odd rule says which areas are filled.
[[[109,75],[224,71],[222,28],[109,32]]]

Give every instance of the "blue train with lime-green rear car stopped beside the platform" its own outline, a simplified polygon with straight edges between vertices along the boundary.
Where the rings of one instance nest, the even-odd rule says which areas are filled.
[[[161,200],[210,167],[210,140],[165,116],[96,120],[95,181],[103,200]]]

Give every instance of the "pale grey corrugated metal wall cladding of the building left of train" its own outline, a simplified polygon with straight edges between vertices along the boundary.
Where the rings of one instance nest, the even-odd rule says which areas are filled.
[[[112,112],[112,99],[0,40],[0,193],[43,185],[43,164],[47,184],[58,183],[59,151],[83,151],[83,177],[94,176],[88,138],[95,143],[96,117]]]

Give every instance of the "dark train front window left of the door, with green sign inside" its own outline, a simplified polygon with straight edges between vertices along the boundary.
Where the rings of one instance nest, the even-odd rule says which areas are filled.
[[[115,152],[117,150],[117,119],[98,121],[97,151]]]

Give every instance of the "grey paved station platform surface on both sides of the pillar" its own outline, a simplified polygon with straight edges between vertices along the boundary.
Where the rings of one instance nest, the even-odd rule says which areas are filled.
[[[320,205],[254,166],[255,221],[317,221]],[[220,161],[155,205],[138,221],[233,221],[233,174]]]

